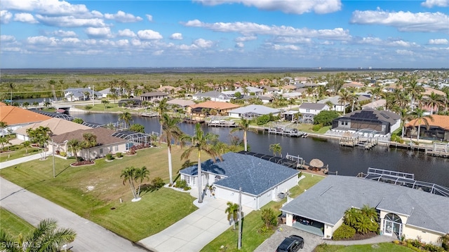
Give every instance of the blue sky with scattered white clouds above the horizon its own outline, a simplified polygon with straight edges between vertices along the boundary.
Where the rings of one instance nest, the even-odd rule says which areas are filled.
[[[449,0],[0,1],[1,68],[449,68]]]

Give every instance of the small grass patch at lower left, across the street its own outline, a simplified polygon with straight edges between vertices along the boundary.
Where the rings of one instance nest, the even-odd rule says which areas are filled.
[[[0,207],[0,228],[5,230],[13,237],[18,235],[27,235],[34,230],[34,227],[22,218],[16,216],[10,211]]]

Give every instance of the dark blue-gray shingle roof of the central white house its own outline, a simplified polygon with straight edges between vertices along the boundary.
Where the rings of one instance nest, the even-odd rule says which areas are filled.
[[[223,161],[207,160],[201,163],[203,172],[226,176],[225,179],[215,182],[217,186],[239,190],[244,193],[260,195],[273,186],[297,176],[295,169],[277,165],[250,155],[239,153],[226,153],[222,155]],[[196,165],[180,170],[181,174],[198,176]]]

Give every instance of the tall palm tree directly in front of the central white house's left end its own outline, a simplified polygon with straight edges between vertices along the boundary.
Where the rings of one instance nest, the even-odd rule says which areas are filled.
[[[216,158],[219,158],[222,160],[221,156],[218,155],[214,149],[213,146],[210,145],[211,141],[214,141],[217,139],[216,134],[210,134],[206,133],[204,134],[203,130],[201,129],[201,125],[197,123],[195,125],[195,133],[193,137],[186,136],[183,137],[185,140],[192,141],[192,146],[187,148],[187,150],[184,151],[181,155],[181,160],[187,160],[192,153],[192,151],[198,151],[198,202],[203,202],[203,193],[202,193],[202,172],[201,172],[201,152],[204,152],[210,156],[212,156],[213,162],[215,162]]]

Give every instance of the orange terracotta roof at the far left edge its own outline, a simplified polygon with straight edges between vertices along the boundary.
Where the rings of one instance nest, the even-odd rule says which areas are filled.
[[[50,119],[39,113],[34,113],[27,109],[16,106],[0,106],[0,121],[8,123],[8,125],[20,125],[25,123],[36,123]]]

